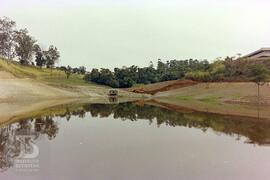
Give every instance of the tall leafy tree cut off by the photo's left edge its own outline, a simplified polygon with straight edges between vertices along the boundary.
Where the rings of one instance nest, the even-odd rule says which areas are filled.
[[[14,52],[14,34],[16,23],[7,17],[0,18],[0,56],[12,59]]]

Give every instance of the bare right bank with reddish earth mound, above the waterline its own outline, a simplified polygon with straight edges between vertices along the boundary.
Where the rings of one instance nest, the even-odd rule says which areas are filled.
[[[135,93],[153,95],[154,99],[171,99],[179,102],[257,104],[258,86],[253,82],[211,82],[173,80],[127,89]],[[270,105],[270,86],[260,86],[260,103]]]

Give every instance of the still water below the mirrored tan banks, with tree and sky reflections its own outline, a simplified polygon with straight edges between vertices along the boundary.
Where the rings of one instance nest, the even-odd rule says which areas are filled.
[[[257,119],[83,104],[2,126],[0,136],[4,180],[270,179],[270,122]]]

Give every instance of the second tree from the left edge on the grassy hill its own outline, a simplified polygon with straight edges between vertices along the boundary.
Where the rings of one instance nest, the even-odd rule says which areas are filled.
[[[28,34],[27,29],[15,32],[15,51],[21,64],[29,64],[33,55],[35,40]]]

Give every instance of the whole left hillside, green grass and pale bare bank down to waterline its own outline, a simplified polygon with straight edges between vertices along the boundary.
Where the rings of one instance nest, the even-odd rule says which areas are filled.
[[[108,87],[87,83],[83,75],[72,74],[69,79],[63,71],[22,66],[17,62],[0,59],[0,101],[35,99],[63,99],[82,97],[106,97]],[[126,91],[120,96],[140,97]]]

